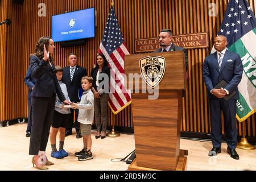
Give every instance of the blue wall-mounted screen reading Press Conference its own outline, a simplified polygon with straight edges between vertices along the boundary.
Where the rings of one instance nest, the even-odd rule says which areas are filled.
[[[94,38],[94,8],[52,16],[54,42]]]

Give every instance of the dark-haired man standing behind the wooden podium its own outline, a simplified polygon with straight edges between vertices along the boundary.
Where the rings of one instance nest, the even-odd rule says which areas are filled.
[[[185,56],[185,67],[188,71],[188,52],[187,49],[184,49],[179,46],[175,46],[174,43],[172,43],[172,31],[170,29],[163,29],[160,31],[159,34],[159,45],[161,48],[156,49],[155,52],[171,52],[171,51],[184,51]]]

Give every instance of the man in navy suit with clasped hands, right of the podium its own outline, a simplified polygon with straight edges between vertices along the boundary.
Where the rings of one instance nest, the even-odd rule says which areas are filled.
[[[236,102],[239,99],[237,85],[240,83],[243,73],[243,66],[240,56],[237,53],[226,49],[228,41],[225,36],[216,36],[214,48],[217,52],[205,57],[203,67],[203,78],[207,86],[207,97],[210,104],[210,118],[212,121],[212,144],[213,148],[209,156],[221,152],[221,110],[224,115],[226,143],[228,154],[233,159],[239,159],[236,152],[237,129],[236,129]],[[215,89],[219,82],[224,80],[228,85],[225,88]],[[233,91],[236,94],[229,100],[223,97]]]

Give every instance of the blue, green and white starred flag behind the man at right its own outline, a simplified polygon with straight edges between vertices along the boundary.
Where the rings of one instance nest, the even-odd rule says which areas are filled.
[[[229,1],[218,35],[226,36],[229,51],[238,53],[242,59],[236,115],[242,122],[256,112],[256,18],[246,0]]]

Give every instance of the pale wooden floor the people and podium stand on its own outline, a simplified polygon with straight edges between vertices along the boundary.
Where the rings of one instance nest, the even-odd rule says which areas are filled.
[[[1,171],[35,171],[31,158],[28,155],[30,138],[26,138],[26,123],[19,123],[9,127],[0,128],[0,170]],[[95,139],[96,131],[92,130],[92,152],[94,158],[81,162],[74,155],[82,148],[82,139],[76,139],[73,135],[65,138],[64,149],[69,156],[64,159],[51,158],[51,145],[47,145],[48,159],[55,163],[49,166],[52,171],[125,171],[129,164],[125,162],[112,162],[114,158],[124,158],[135,149],[134,135],[121,134],[118,138]],[[256,170],[256,150],[246,151],[237,148],[240,160],[230,158],[226,152],[226,143],[222,143],[222,152],[215,157],[209,157],[208,152],[212,148],[211,142],[181,139],[180,148],[188,150],[188,171],[240,171]],[[57,148],[59,139],[57,138]]]

